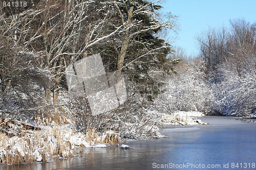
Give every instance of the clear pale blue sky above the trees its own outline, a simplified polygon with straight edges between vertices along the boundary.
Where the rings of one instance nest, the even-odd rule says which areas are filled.
[[[188,56],[198,55],[195,37],[209,27],[228,28],[229,20],[238,18],[256,22],[256,0],[165,0],[161,5],[164,12],[179,16],[173,45],[182,47]]]

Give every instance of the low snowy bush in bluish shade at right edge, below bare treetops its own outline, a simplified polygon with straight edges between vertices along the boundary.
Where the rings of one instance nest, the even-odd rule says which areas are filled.
[[[243,67],[225,63],[219,69],[221,82],[213,83],[214,110],[225,115],[256,115],[256,57],[243,60]]]

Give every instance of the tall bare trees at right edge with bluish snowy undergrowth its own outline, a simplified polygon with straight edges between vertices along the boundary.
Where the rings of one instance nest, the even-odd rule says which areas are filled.
[[[231,28],[209,29],[197,38],[214,92],[217,113],[256,114],[256,24],[230,21]]]

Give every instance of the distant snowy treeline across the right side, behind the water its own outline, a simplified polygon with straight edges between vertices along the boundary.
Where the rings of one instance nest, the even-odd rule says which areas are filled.
[[[188,59],[182,48],[177,76],[168,80],[161,111],[202,111],[255,117],[256,23],[230,20],[229,28],[209,28],[197,36],[200,54]]]

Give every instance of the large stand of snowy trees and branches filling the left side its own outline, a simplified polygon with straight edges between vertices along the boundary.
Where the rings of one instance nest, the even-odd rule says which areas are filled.
[[[131,84],[130,91],[147,93],[147,89],[137,91],[138,84],[156,84],[150,76],[152,70],[172,67],[172,61],[166,58],[172,46],[159,33],[175,31],[177,26],[175,16],[159,16],[161,8],[158,1],[148,0],[47,0],[29,1],[20,9],[2,7],[2,118],[8,117],[6,113],[16,118],[21,117],[19,113],[37,115],[44,109],[87,115],[87,109],[68,109],[62,100],[69,95],[65,70],[97,53],[106,72],[122,72]],[[166,21],[160,21],[160,17],[166,17]],[[78,122],[88,125],[81,121],[86,118]]]

